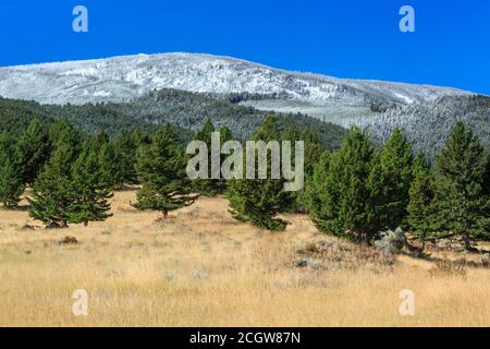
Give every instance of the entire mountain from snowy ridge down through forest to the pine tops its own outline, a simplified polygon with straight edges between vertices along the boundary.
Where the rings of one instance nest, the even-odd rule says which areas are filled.
[[[194,95],[171,93],[175,89]],[[446,87],[287,72],[209,55],[137,55],[0,68],[0,96],[50,105],[106,104],[97,109],[97,120],[87,115],[90,108],[75,112],[91,120],[94,130],[119,130],[118,118],[125,124],[169,121],[195,130],[209,117],[244,139],[264,111],[275,111],[296,124],[315,124],[327,133],[327,142],[332,141],[331,123],[368,129],[379,141],[400,127],[416,148],[433,153],[452,125],[465,121],[490,144],[489,97]],[[64,112],[50,109],[58,117]],[[305,115],[329,122],[328,130]],[[72,121],[87,128],[84,120]]]

